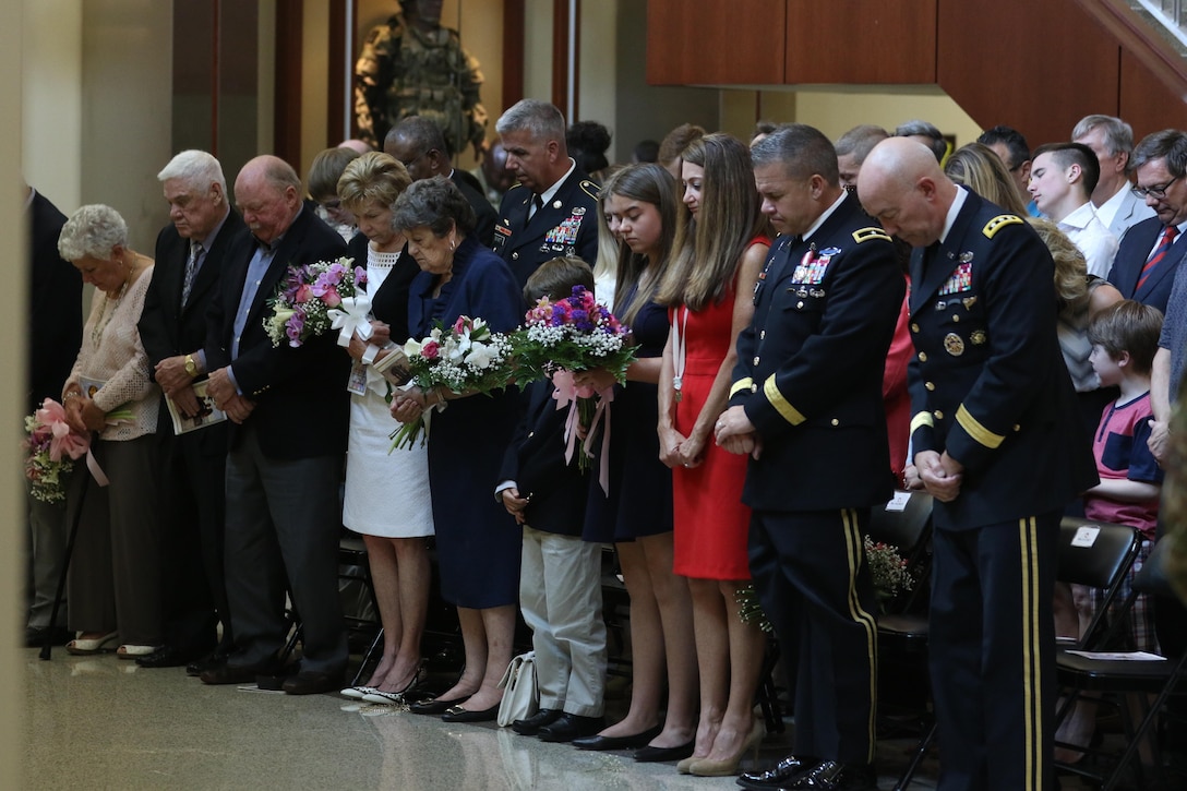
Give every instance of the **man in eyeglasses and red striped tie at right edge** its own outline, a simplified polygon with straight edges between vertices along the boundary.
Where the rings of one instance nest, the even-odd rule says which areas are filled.
[[[1137,185],[1134,194],[1155,215],[1137,223],[1121,240],[1109,281],[1126,299],[1167,312],[1175,270],[1187,254],[1187,133],[1163,129],[1134,150]]]

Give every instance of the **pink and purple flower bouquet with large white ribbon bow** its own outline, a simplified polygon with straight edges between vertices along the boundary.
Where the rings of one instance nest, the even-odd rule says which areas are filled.
[[[264,329],[278,347],[285,341],[296,348],[330,329],[339,330],[338,344],[347,346],[355,331],[370,335],[370,299],[360,289],[367,270],[351,268],[354,259],[292,265],[268,300],[272,312]]]

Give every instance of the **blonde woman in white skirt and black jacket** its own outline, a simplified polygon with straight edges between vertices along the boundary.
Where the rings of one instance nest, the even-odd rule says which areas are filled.
[[[404,235],[392,227],[392,207],[411,183],[404,165],[381,152],[353,159],[338,179],[338,198],[363,236],[363,243],[351,242],[351,248],[356,264],[366,260],[362,290],[374,316],[370,335],[361,338],[356,331],[347,348],[354,365],[342,524],[362,533],[367,544],[383,625],[383,656],[370,679],[342,694],[372,703],[400,703],[415,683],[429,612],[429,455],[423,445],[388,454],[388,435],[395,428],[387,403],[392,386],[372,369],[393,338],[408,337],[408,286],[420,268]]]

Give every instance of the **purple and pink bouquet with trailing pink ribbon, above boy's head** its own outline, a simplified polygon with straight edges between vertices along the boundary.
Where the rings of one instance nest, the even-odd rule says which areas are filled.
[[[620,382],[626,381],[627,366],[635,359],[634,347],[627,346],[629,334],[630,330],[605,305],[596,302],[585,286],[576,285],[572,296],[564,299],[552,302],[542,297],[527,312],[523,327],[512,336],[516,381],[522,385],[551,376],[557,386],[553,393],[557,409],[569,405],[566,461],[572,461],[578,434],[585,434],[582,453],[577,454],[577,466],[583,470],[589,469],[594,457],[590,443],[603,415],[607,416],[607,431],[602,432],[602,442],[603,445],[609,442],[605,409],[614,400],[614,392],[607,388],[595,393],[590,387],[576,387],[572,372],[604,368]],[[607,475],[602,479],[605,488]]]

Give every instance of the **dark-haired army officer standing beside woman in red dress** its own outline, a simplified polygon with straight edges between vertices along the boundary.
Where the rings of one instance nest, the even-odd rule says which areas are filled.
[[[799,635],[795,752],[748,787],[876,789],[877,627],[862,536],[893,481],[882,369],[903,298],[894,245],[842,189],[818,129],[755,144],[782,234],[737,342],[717,442],[748,453],[750,572],[779,634]]]

